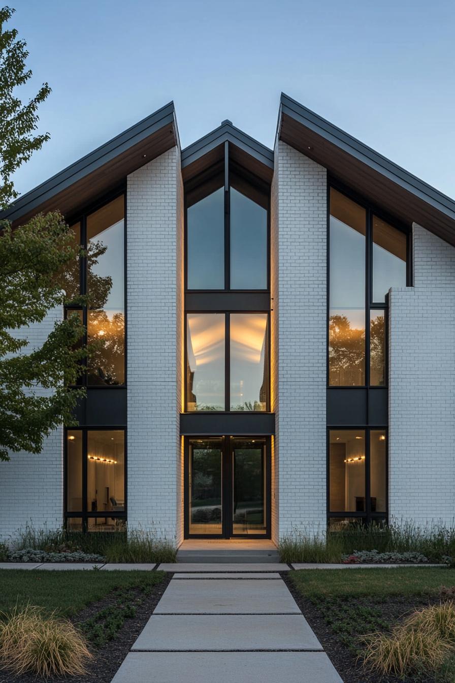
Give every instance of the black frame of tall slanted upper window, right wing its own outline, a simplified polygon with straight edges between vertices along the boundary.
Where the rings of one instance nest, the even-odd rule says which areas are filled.
[[[330,190],[334,189],[338,193],[344,195],[355,204],[358,204],[365,210],[365,382],[363,385],[332,385],[330,384],[329,373],[329,324],[330,324]],[[334,178],[327,180],[327,389],[387,389],[388,387],[388,294],[385,295],[385,301],[372,301],[373,288],[373,217],[377,217],[385,223],[389,223],[391,227],[396,228],[406,236],[406,286],[412,286],[412,232],[411,226],[405,225],[402,221],[398,221],[394,217],[386,214],[381,208],[375,206],[371,202],[366,201],[364,197],[359,196],[347,186],[341,184]],[[372,385],[370,384],[370,311],[383,311],[384,314],[384,384]]]

